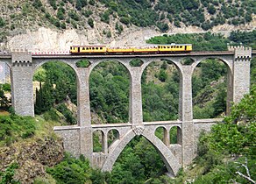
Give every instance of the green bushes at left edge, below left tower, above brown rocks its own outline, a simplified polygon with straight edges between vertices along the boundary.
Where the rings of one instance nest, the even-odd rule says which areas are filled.
[[[1,116],[0,145],[11,145],[19,138],[31,138],[35,133],[35,124],[32,117]]]

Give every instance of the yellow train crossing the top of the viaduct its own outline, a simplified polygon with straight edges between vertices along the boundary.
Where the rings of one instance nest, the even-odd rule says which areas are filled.
[[[170,44],[140,47],[70,46],[71,54],[175,53],[190,52],[192,44]]]

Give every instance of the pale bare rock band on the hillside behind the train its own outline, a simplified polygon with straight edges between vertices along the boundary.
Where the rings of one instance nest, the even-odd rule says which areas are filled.
[[[228,36],[231,31],[252,31],[256,27],[256,17],[247,25],[217,25],[212,32],[219,32]],[[167,34],[175,33],[194,33],[204,32],[196,26],[173,27]],[[65,32],[54,31],[50,28],[40,27],[37,31],[27,31],[8,39],[7,47],[11,49],[22,48],[32,52],[50,52],[50,51],[68,51],[72,45],[89,45],[103,44],[108,46],[143,46],[146,39],[162,34],[153,28],[139,28],[131,26],[114,38],[106,38],[96,29],[88,29],[84,32],[78,32],[74,29]]]

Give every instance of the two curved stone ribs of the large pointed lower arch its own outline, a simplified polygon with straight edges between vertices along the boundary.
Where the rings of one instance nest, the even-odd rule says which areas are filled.
[[[118,156],[124,150],[124,147],[134,138],[136,134],[134,131],[128,131],[123,138],[121,138],[120,142],[116,145],[116,147],[109,152],[107,159],[103,163],[102,171],[111,171],[114,166]],[[151,132],[144,130],[141,134],[144,138],[146,138],[160,153],[160,157],[163,159],[168,173],[172,175],[176,175],[178,173],[179,168],[181,168],[181,164],[178,159],[174,157],[174,154],[167,148],[166,145],[157,137],[151,134]]]

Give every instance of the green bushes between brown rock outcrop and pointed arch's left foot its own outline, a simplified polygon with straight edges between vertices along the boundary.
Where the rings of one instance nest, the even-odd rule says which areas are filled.
[[[104,183],[108,178],[107,173],[92,169],[89,166],[89,160],[84,156],[81,155],[79,159],[75,159],[68,153],[65,154],[60,164],[46,168],[46,172],[53,175],[53,178],[60,184]]]

